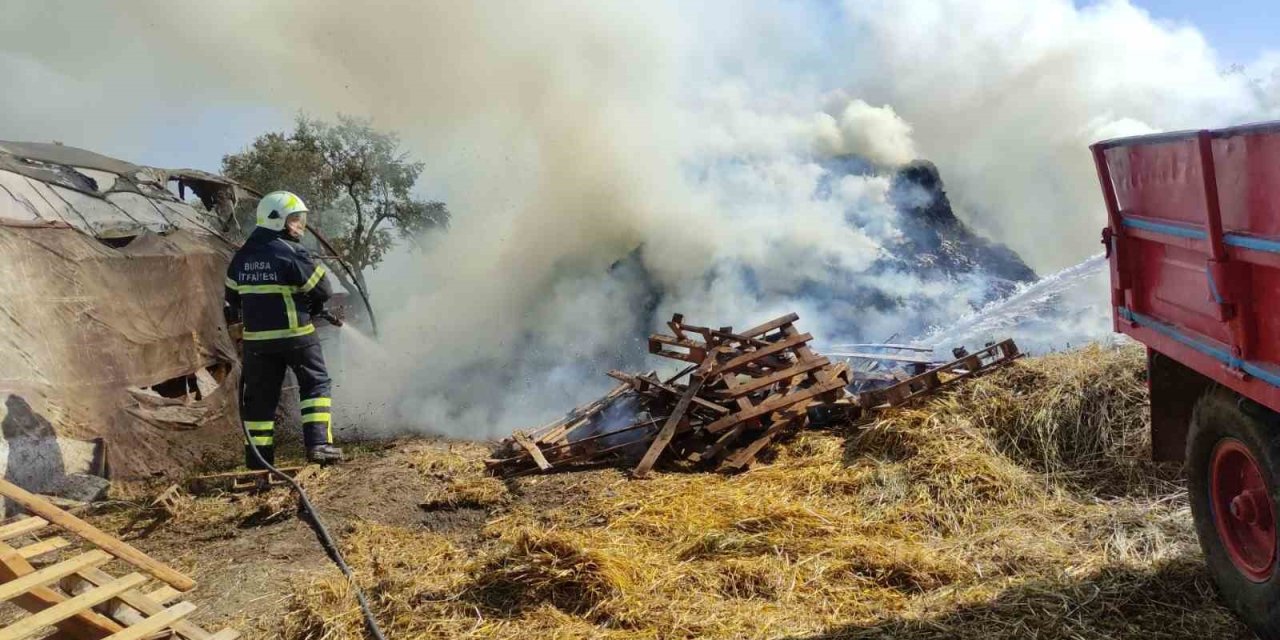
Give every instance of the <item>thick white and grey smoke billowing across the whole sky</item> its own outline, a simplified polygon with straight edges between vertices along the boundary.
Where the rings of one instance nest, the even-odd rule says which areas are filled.
[[[347,358],[339,402],[475,436],[589,398],[671,311],[719,325],[794,310],[832,339],[960,317],[983,278],[873,269],[902,237],[895,166],[937,163],[961,216],[1048,271],[1096,251],[1089,142],[1270,116],[1280,86],[1275,60],[1220,73],[1196,31],[1123,0],[0,14],[0,138],[148,161],[140,140],[197,114],[209,131],[191,137],[216,157],[247,140],[210,110],[264,106],[402,133],[456,223],[370,278],[387,353]]]

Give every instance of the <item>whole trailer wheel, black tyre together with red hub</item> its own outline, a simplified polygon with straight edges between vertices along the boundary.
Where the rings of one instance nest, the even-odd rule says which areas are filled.
[[[1252,415],[1257,413],[1257,415]],[[1265,640],[1280,639],[1280,430],[1266,410],[1213,390],[1196,403],[1187,484],[1196,532],[1226,604]]]

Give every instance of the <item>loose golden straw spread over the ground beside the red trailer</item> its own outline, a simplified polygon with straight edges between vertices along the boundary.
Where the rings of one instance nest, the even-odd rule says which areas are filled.
[[[1030,358],[804,431],[751,474],[526,477],[486,502],[481,536],[361,524],[343,543],[399,639],[1245,637],[1185,498],[1149,480],[1171,471],[1139,460],[1140,365]],[[1101,497],[1105,479],[1124,483]],[[289,608],[282,637],[362,637],[330,571]]]

